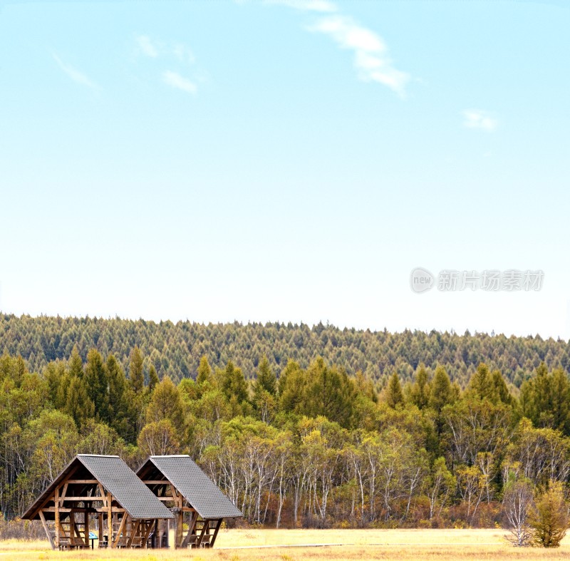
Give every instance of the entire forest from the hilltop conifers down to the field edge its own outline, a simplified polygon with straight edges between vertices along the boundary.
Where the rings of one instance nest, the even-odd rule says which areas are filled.
[[[6,519],[76,453],[133,468],[190,453],[247,523],[287,527],[492,526],[514,492],[570,480],[562,341],[15,316],[0,329]]]

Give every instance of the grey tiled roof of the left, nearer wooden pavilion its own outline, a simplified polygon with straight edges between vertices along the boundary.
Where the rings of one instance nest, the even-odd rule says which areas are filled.
[[[156,498],[154,493],[147,488],[138,478],[136,473],[119,458],[119,456],[95,456],[79,454],[63,469],[31,505],[22,518],[32,520],[38,515],[38,510],[43,508],[57,485],[70,473],[76,472],[83,466],[93,475],[93,479],[103,485],[108,493],[113,495],[115,501],[124,508],[130,518],[135,520],[148,518],[174,518],[170,510]]]

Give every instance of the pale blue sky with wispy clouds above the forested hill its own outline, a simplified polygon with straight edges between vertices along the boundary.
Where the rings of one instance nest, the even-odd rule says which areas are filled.
[[[570,337],[569,4],[0,2],[0,309]],[[540,292],[410,272],[541,269]]]

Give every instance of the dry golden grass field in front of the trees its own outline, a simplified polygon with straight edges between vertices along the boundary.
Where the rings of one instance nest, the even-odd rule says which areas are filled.
[[[530,561],[570,557],[570,537],[558,549],[544,550],[512,547],[503,536],[502,530],[221,530],[214,550],[95,549],[83,552],[52,551],[47,542],[8,540],[0,542],[0,561]],[[302,547],[304,545],[323,547]]]

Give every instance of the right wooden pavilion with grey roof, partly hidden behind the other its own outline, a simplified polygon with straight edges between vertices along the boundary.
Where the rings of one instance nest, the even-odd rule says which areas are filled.
[[[243,516],[190,456],[150,456],[137,475],[175,515],[176,548],[214,547],[222,520]]]

